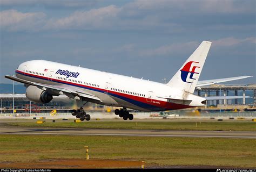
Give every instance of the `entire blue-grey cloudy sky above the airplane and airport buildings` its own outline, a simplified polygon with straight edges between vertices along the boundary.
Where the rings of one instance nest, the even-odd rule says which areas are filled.
[[[0,0],[0,83],[43,59],[164,83],[201,41],[199,80],[254,76],[256,1]]]

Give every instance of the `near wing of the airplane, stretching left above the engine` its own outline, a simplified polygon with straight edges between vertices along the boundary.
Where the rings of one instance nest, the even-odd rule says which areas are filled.
[[[100,101],[102,102],[102,100],[100,100],[97,96],[90,94],[89,92],[86,92],[84,90],[80,90],[79,88],[76,87],[72,87],[69,85],[48,85],[48,84],[41,84],[41,83],[36,83],[36,82],[30,82],[30,81],[26,81],[26,80],[22,80],[20,78],[14,77],[14,76],[9,76],[6,75],[5,78],[8,78],[10,80],[13,81],[17,81],[17,82],[21,82],[27,85],[33,85],[38,87],[39,89],[42,90],[51,90],[52,92],[55,92],[58,95],[66,95],[70,98],[73,99],[80,99],[80,97],[84,97],[84,98],[88,98],[88,99],[93,99],[96,101]]]

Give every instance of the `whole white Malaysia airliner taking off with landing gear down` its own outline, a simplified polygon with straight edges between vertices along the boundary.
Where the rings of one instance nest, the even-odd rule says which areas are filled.
[[[59,95],[75,99],[79,109],[73,109],[71,114],[82,121],[91,119],[90,114],[83,109],[87,102],[120,107],[114,113],[124,120],[132,120],[133,114],[127,109],[178,110],[204,106],[207,100],[243,98],[199,97],[193,94],[195,89],[200,90],[204,85],[251,77],[198,81],[211,43],[201,42],[166,84],[45,60],[23,62],[15,71],[16,77],[5,77],[23,83],[26,87],[26,98],[32,102],[49,103],[53,96]]]

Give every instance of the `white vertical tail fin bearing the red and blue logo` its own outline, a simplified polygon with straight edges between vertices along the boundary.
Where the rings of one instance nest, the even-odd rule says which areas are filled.
[[[167,85],[193,94],[211,44],[210,41],[203,41]]]

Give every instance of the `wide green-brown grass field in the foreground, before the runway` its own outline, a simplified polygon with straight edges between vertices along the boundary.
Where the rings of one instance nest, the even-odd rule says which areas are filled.
[[[0,162],[47,159],[144,160],[147,166],[256,167],[255,139],[0,135]]]

